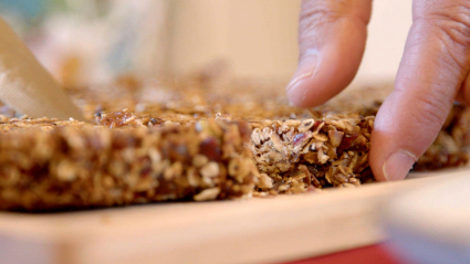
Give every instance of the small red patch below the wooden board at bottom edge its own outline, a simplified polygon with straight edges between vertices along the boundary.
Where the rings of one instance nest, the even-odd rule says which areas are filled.
[[[315,256],[284,264],[411,264],[393,256],[382,244]]]

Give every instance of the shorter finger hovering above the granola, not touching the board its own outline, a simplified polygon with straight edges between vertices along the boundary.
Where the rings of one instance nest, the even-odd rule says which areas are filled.
[[[302,1],[291,103],[321,105],[351,83],[364,54],[370,9],[372,0]]]

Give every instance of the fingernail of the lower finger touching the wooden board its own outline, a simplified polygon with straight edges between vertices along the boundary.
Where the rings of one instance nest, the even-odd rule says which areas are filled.
[[[412,154],[400,150],[388,157],[382,167],[382,171],[387,181],[403,180],[408,175],[416,160]]]

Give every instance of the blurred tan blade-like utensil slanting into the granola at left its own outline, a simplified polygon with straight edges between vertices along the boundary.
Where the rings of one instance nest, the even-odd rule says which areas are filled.
[[[1,18],[0,99],[30,117],[84,119],[72,99]]]

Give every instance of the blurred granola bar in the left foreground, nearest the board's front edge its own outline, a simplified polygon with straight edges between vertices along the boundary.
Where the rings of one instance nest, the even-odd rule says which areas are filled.
[[[1,210],[242,198],[259,177],[243,123],[109,129],[3,118],[0,127],[9,130],[0,133]]]

